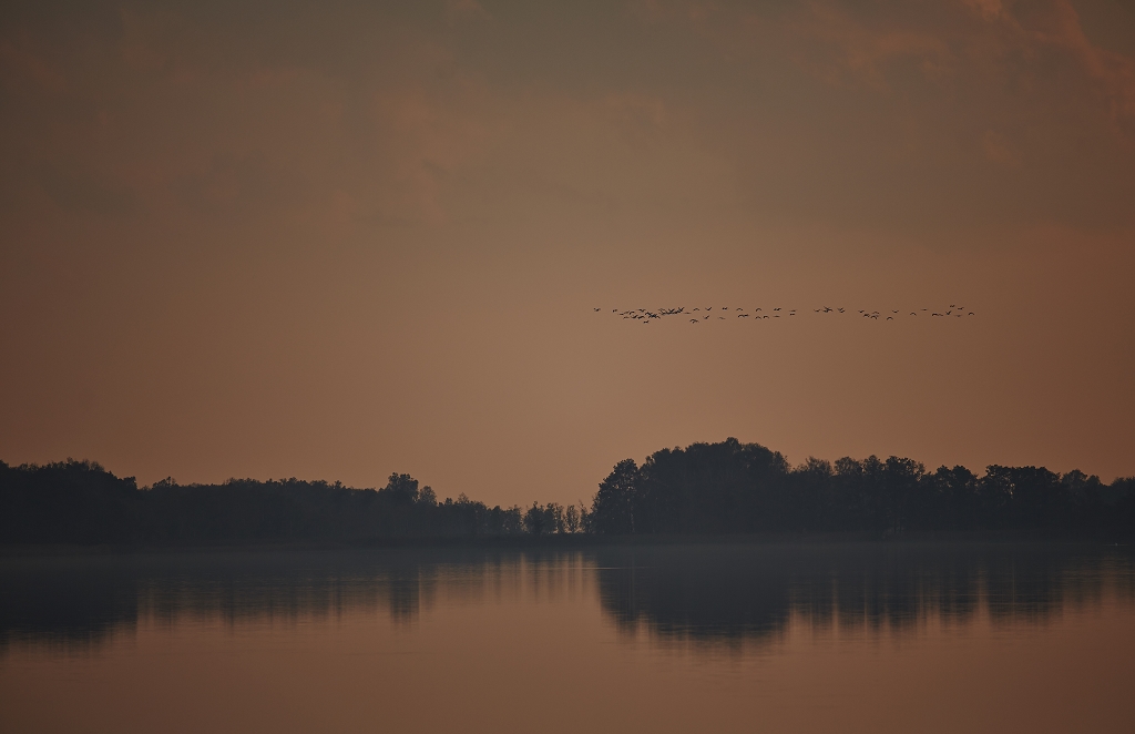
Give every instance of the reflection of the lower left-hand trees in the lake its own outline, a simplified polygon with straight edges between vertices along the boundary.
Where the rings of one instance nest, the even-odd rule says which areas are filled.
[[[89,649],[140,619],[295,622],[347,611],[413,624],[439,591],[454,603],[488,595],[571,592],[579,553],[476,550],[228,552],[0,560],[0,653],[12,643]]]

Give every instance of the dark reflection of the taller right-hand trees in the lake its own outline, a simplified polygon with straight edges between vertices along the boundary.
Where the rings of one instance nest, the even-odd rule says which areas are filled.
[[[600,551],[604,610],[627,633],[770,637],[814,627],[901,632],[930,619],[1042,623],[1107,592],[1130,601],[1132,556],[1082,545],[705,545]]]

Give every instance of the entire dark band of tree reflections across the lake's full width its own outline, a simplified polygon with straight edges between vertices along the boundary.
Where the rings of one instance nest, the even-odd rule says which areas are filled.
[[[245,622],[387,614],[439,600],[598,598],[619,629],[695,642],[773,639],[792,618],[901,632],[927,619],[1041,623],[1133,598],[1121,549],[1051,545],[661,545],[585,551],[388,550],[5,559],[0,654],[96,648],[140,619]]]

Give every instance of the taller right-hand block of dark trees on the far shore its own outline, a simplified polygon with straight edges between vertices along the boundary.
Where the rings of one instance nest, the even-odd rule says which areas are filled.
[[[1135,477],[1043,467],[927,470],[913,459],[809,458],[729,439],[615,465],[590,529],[609,534],[758,532],[1107,531],[1135,528]]]

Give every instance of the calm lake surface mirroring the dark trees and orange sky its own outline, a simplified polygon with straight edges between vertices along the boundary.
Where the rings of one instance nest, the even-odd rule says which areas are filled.
[[[2,732],[1130,732],[1084,545],[0,560]]]

